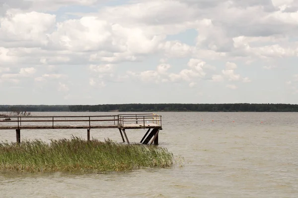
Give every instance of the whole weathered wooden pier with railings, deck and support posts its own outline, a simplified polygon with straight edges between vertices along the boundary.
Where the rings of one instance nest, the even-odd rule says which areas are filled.
[[[3,116],[0,130],[15,130],[16,142],[20,143],[21,130],[30,129],[118,129],[122,141],[130,144],[126,130],[147,129],[141,143],[158,145],[158,133],[162,130],[161,116],[157,114],[119,114],[92,116]],[[7,120],[5,118],[10,118]]]

